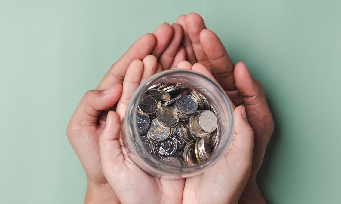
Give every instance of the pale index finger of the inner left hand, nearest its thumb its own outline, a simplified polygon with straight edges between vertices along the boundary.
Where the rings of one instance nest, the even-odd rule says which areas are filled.
[[[128,103],[134,91],[140,85],[141,77],[143,73],[143,62],[140,60],[134,60],[125,75],[123,81],[123,90],[120,100],[117,103],[117,113],[121,120],[124,117],[124,113],[127,110]]]

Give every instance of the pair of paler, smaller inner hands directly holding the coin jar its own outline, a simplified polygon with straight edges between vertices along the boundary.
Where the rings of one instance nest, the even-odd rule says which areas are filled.
[[[250,175],[254,138],[243,106],[234,110],[235,135],[231,148],[203,174],[186,180],[158,179],[146,174],[125,153],[120,137],[120,118],[127,109],[125,101],[142,82],[144,73],[150,73],[148,67],[157,65],[156,58],[149,63],[134,60],[129,66],[117,111],[108,113],[106,127],[99,139],[103,173],[118,200],[122,203],[237,203]],[[210,74],[199,64],[194,70]],[[119,95],[119,92],[114,94]],[[217,193],[222,189],[224,193]]]

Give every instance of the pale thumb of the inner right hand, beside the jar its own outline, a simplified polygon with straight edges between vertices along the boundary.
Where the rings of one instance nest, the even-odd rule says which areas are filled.
[[[233,111],[235,125],[232,146],[228,152],[228,161],[239,170],[250,174],[254,145],[254,132],[247,118],[245,107],[240,105]],[[236,166],[237,165],[237,166]]]

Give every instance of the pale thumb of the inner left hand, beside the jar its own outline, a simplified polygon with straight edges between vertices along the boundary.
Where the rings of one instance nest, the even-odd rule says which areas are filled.
[[[114,111],[110,111],[107,116],[105,128],[99,138],[101,163],[103,173],[107,170],[119,168],[123,163],[121,143],[119,141],[121,122],[120,117]]]

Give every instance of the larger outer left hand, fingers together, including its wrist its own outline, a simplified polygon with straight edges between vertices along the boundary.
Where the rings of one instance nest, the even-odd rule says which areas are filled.
[[[139,38],[112,65],[98,85],[98,90],[88,91],[79,103],[66,134],[87,174],[86,203],[94,200],[112,203],[117,200],[102,172],[98,138],[104,129],[108,111],[116,110],[115,104],[122,90],[122,85],[119,84],[122,84],[128,66],[136,59],[152,61],[157,58],[159,63],[156,72],[175,67],[179,61],[186,59],[186,51],[180,47],[182,34],[182,28],[178,24],[170,26],[163,23],[154,34],[147,33]],[[146,57],[150,53],[154,56]],[[143,79],[147,77],[147,73],[142,76]],[[104,91],[99,91],[102,89],[114,91],[104,94]]]

